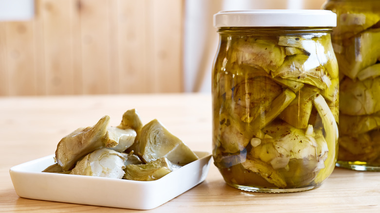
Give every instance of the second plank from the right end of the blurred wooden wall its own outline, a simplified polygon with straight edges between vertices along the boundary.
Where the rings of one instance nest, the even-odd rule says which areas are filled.
[[[148,0],[119,0],[118,40],[121,91],[153,91],[152,84],[147,81],[148,65],[152,63],[152,59],[147,57],[147,52],[151,48],[149,40],[146,39],[147,6]]]

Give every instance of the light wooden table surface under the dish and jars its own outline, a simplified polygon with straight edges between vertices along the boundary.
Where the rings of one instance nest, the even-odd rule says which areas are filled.
[[[104,115],[118,125],[135,108],[142,122],[161,121],[192,150],[211,152],[209,94],[140,94],[0,98],[0,212],[134,212],[136,210],[19,197],[9,169],[54,154],[59,140]],[[380,173],[336,168],[320,188],[287,194],[249,193],[229,187],[211,165],[206,180],[146,212],[380,212]]]

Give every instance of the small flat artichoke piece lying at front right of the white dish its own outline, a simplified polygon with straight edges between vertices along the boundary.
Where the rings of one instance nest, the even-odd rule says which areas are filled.
[[[147,164],[131,164],[124,169],[124,179],[151,181],[171,173],[180,166],[172,164],[166,158],[159,158]]]

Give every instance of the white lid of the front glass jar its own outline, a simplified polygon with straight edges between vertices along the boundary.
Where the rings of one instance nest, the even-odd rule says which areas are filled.
[[[214,27],[335,27],[329,10],[240,10],[214,15]]]

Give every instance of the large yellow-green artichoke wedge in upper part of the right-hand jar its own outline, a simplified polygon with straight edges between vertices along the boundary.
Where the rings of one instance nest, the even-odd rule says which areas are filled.
[[[345,52],[336,53],[339,71],[351,79],[380,58],[380,28],[368,29],[344,42]]]

